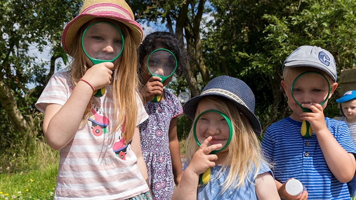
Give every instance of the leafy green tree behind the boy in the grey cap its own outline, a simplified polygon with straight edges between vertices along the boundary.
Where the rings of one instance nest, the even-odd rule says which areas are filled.
[[[214,20],[207,23],[204,32],[207,65],[211,73],[239,77],[252,87],[256,113],[264,128],[290,114],[280,84],[281,67],[298,46],[327,49],[334,55],[339,72],[355,67],[355,1],[211,3]],[[329,112],[330,107],[333,111]],[[325,115],[333,117],[335,110],[335,99],[331,99]]]

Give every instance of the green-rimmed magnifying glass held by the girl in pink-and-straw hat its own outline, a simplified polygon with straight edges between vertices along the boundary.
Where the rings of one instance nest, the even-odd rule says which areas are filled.
[[[81,47],[93,65],[113,62],[124,50],[124,36],[120,29],[110,22],[94,22],[84,30]],[[101,97],[104,93],[105,87],[95,90],[93,95]]]

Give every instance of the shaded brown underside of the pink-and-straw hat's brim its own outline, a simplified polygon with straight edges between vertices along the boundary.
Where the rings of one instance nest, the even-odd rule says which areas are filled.
[[[65,27],[63,33],[62,33],[62,46],[64,50],[67,52],[68,55],[72,56],[73,55],[73,47],[75,44],[75,41],[77,40],[76,34],[80,27],[84,25],[86,22],[90,21],[91,19],[94,18],[108,18],[108,19],[114,19],[117,20],[126,26],[129,27],[129,29],[133,32],[133,37],[134,37],[134,42],[136,47],[138,47],[143,39],[143,30],[141,28],[141,25],[137,23],[136,21],[133,20],[128,20],[126,18],[119,18],[119,17],[114,17],[113,15],[100,15],[98,16],[97,14],[79,14],[76,16],[74,19],[72,19],[67,26]],[[135,48],[136,48],[135,47]]]

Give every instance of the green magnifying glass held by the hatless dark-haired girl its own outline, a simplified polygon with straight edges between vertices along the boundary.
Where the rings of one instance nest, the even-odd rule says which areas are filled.
[[[177,59],[174,54],[167,49],[156,49],[148,55],[147,69],[152,76],[158,76],[165,81],[173,75],[177,69]],[[151,101],[157,103],[161,100],[161,95],[155,95]]]

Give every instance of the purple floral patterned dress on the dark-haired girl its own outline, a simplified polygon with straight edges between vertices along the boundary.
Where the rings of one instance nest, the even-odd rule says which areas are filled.
[[[144,105],[149,118],[140,125],[142,156],[154,200],[170,200],[172,197],[173,172],[168,132],[172,118],[183,113],[181,103],[172,92],[164,90],[164,95],[162,101]]]

